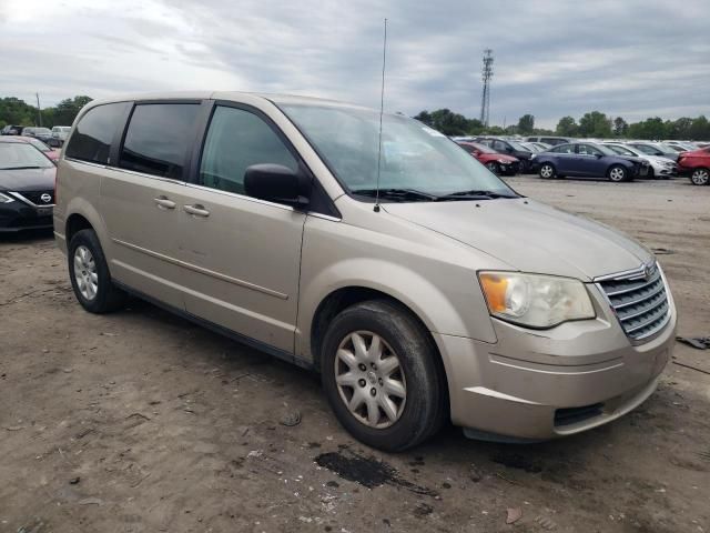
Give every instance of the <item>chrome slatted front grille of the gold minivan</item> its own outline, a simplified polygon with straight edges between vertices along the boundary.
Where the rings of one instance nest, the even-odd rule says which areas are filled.
[[[657,264],[598,282],[626,334],[640,341],[660,331],[670,319],[670,305]]]

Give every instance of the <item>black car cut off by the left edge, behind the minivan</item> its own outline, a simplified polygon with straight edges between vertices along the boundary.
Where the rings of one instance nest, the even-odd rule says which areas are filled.
[[[55,172],[28,142],[0,138],[0,232],[52,228]]]

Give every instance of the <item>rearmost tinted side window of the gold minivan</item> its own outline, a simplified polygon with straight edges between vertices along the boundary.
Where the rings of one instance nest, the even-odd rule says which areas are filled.
[[[111,142],[130,103],[98,105],[87,111],[67,145],[67,157],[108,164]]]

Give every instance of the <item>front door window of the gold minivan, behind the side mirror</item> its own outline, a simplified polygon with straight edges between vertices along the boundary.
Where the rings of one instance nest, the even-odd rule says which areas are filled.
[[[266,122],[243,109],[217,107],[202,152],[201,183],[244,194],[244,172],[263,163],[298,169],[296,159]]]

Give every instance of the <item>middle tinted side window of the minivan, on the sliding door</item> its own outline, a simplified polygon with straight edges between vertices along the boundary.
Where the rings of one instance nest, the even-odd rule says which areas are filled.
[[[121,161],[123,169],[183,179],[187,149],[193,140],[197,103],[144,103],[133,110]]]

